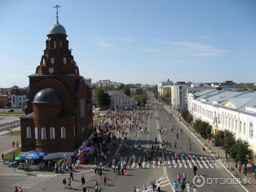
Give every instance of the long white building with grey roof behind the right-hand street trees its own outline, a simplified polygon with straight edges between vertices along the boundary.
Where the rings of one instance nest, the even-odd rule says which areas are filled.
[[[188,109],[194,119],[202,119],[213,127],[213,133],[228,129],[236,139],[250,144],[250,164],[256,165],[256,93],[228,90],[203,90],[189,93]]]

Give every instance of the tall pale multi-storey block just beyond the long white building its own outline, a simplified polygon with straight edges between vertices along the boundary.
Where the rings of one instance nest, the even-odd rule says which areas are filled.
[[[177,82],[171,87],[172,108],[186,109],[187,108],[187,88],[189,84],[185,82]]]

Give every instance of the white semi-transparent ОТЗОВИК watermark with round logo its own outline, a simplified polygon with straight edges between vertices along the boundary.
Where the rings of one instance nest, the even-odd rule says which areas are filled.
[[[250,182],[251,177],[243,177],[243,178],[237,178],[237,177],[204,177],[203,175],[195,175],[192,179],[192,183],[200,188],[204,186],[205,184],[251,184]]]

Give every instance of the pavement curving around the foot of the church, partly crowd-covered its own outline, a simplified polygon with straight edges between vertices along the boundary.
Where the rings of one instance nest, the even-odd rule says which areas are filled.
[[[99,130],[97,130],[99,132]],[[111,130],[111,132],[115,132],[115,135],[117,138],[121,137],[122,138],[122,133],[119,134],[119,131],[115,131],[115,130]],[[123,131],[127,131],[127,128],[124,128]],[[110,145],[110,143],[106,143],[106,146],[108,147]],[[119,145],[116,146],[115,148],[115,152],[110,153],[110,157],[107,157],[107,162],[103,162],[101,160],[101,158],[99,158],[97,160],[97,165],[99,165],[99,163],[102,161],[103,166],[108,166],[111,161],[113,160],[113,157],[115,157],[117,150],[119,148]],[[16,148],[14,148],[15,150]],[[13,151],[13,150],[12,150]],[[1,161],[3,162],[3,161]],[[79,174],[84,174],[87,172],[94,172],[94,170],[92,169],[92,167],[94,166],[94,160],[90,160],[88,164],[80,164],[81,168],[76,169],[76,167],[73,167],[73,175],[79,175]],[[45,166],[44,169],[41,170],[22,170],[22,169],[17,169],[17,167],[15,168],[14,172],[14,167],[8,167],[8,166],[4,166],[3,163],[0,163],[0,176],[31,176],[31,175],[69,175],[69,172],[62,172],[62,173],[55,173],[55,168],[54,165],[51,166],[52,172],[48,172],[48,166]]]

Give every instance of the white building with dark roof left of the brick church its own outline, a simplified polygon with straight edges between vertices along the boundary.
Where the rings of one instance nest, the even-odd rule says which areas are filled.
[[[11,108],[26,107],[26,88],[19,88],[15,85],[8,91],[8,95]]]

